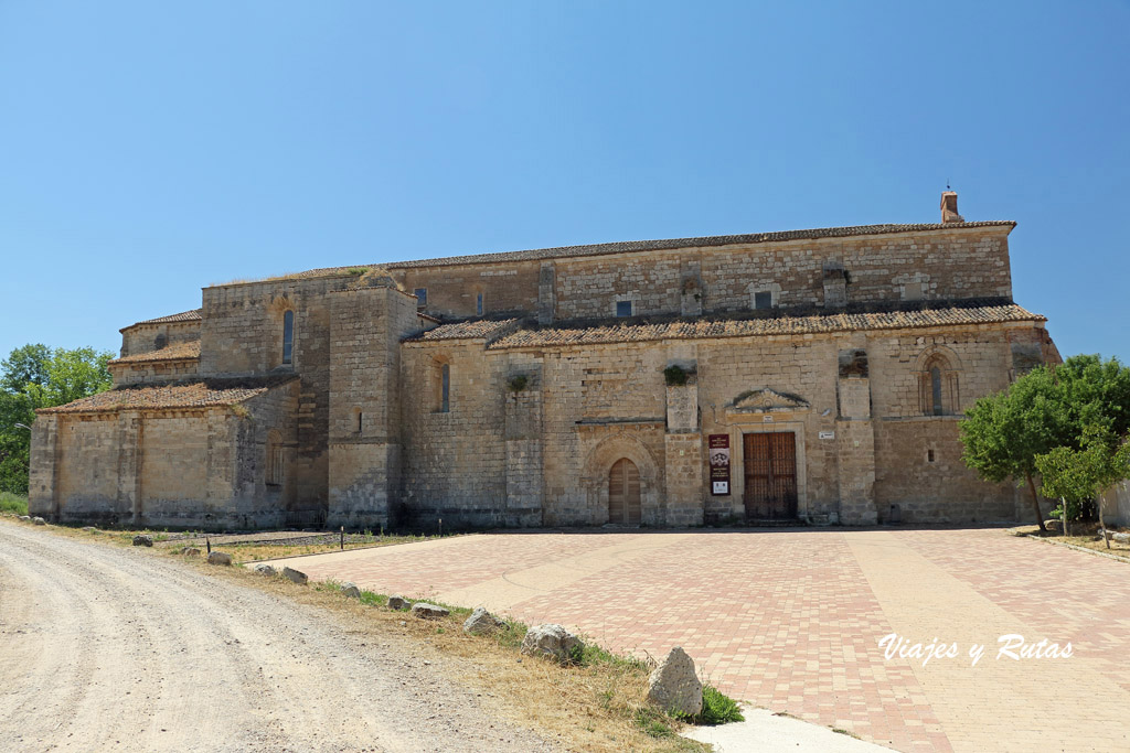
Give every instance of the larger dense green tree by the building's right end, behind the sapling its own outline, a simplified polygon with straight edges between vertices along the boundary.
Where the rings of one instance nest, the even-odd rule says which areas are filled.
[[[1037,458],[1054,454],[1055,459],[1045,464],[1094,463],[1095,457],[1072,459],[1060,448],[1078,454],[1094,441],[1088,437],[1106,437],[1107,447],[1125,437],[1130,369],[1118,359],[1104,362],[1098,356],[1075,356],[1054,368],[1033,369],[1008,389],[979,400],[966,415],[962,422],[965,464],[988,481],[1027,483],[1043,528],[1034,481],[1041,474]],[[1050,494],[1050,489],[1044,493]]]

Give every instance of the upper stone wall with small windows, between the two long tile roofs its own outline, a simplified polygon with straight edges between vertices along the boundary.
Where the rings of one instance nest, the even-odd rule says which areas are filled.
[[[636,315],[744,312],[753,308],[757,291],[772,292],[774,306],[781,307],[1011,298],[1010,229],[949,228],[390,269],[406,290],[427,288],[429,313],[457,318],[477,315],[479,292],[487,315],[538,315],[542,322],[607,318],[625,300]],[[826,292],[829,271],[837,275],[834,294]],[[549,290],[547,281],[553,282]],[[826,301],[826,295],[832,299]]]

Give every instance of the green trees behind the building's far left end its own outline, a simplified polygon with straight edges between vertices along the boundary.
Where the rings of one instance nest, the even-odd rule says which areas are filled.
[[[51,350],[28,344],[0,361],[0,491],[27,493],[35,410],[63,405],[108,389],[113,353],[93,348]]]

